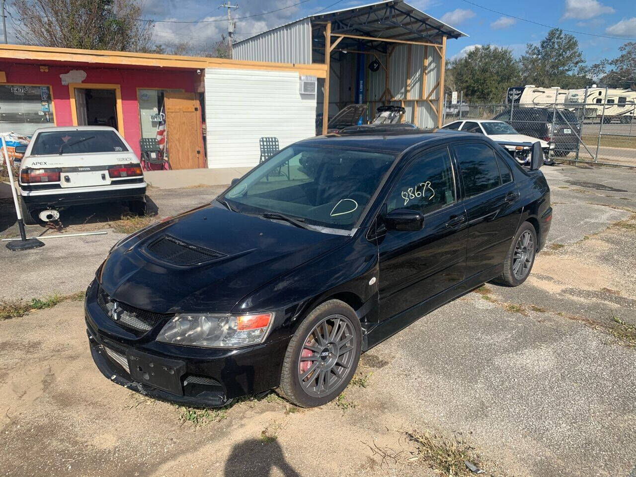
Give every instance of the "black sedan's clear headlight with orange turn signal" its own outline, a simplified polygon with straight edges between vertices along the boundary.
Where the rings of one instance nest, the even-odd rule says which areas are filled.
[[[262,343],[272,327],[273,313],[230,315],[179,314],[163,326],[156,340],[174,345],[235,348]]]

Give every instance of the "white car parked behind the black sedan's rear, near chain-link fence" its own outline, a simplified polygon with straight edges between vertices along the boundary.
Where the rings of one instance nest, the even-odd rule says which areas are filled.
[[[476,134],[484,134],[490,137],[495,142],[530,142],[534,143],[539,141],[541,143],[541,149],[543,149],[544,161],[550,161],[550,149],[554,149],[554,144],[548,144],[543,139],[537,137],[528,136],[525,134],[519,134],[508,123],[504,121],[495,120],[459,120],[448,123],[442,129],[459,130],[464,132],[474,132]],[[504,148],[513,156],[519,163],[525,164],[529,160],[529,152],[520,149],[518,146],[508,146],[502,144]],[[551,162],[551,161],[550,161]]]

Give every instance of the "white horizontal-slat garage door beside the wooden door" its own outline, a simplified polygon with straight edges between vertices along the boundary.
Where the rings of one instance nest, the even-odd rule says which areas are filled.
[[[206,69],[208,166],[257,165],[261,137],[277,137],[282,149],[314,136],[316,100],[299,91],[298,73]]]

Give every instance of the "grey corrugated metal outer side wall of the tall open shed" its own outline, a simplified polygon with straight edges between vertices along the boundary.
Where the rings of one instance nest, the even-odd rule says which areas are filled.
[[[311,22],[307,18],[241,41],[233,46],[232,57],[244,61],[311,64]]]

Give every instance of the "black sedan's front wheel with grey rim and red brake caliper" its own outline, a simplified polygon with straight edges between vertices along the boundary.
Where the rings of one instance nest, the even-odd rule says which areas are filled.
[[[332,401],[356,372],[361,349],[356,312],[343,301],[325,301],[305,317],[287,346],[279,394],[301,408]]]

